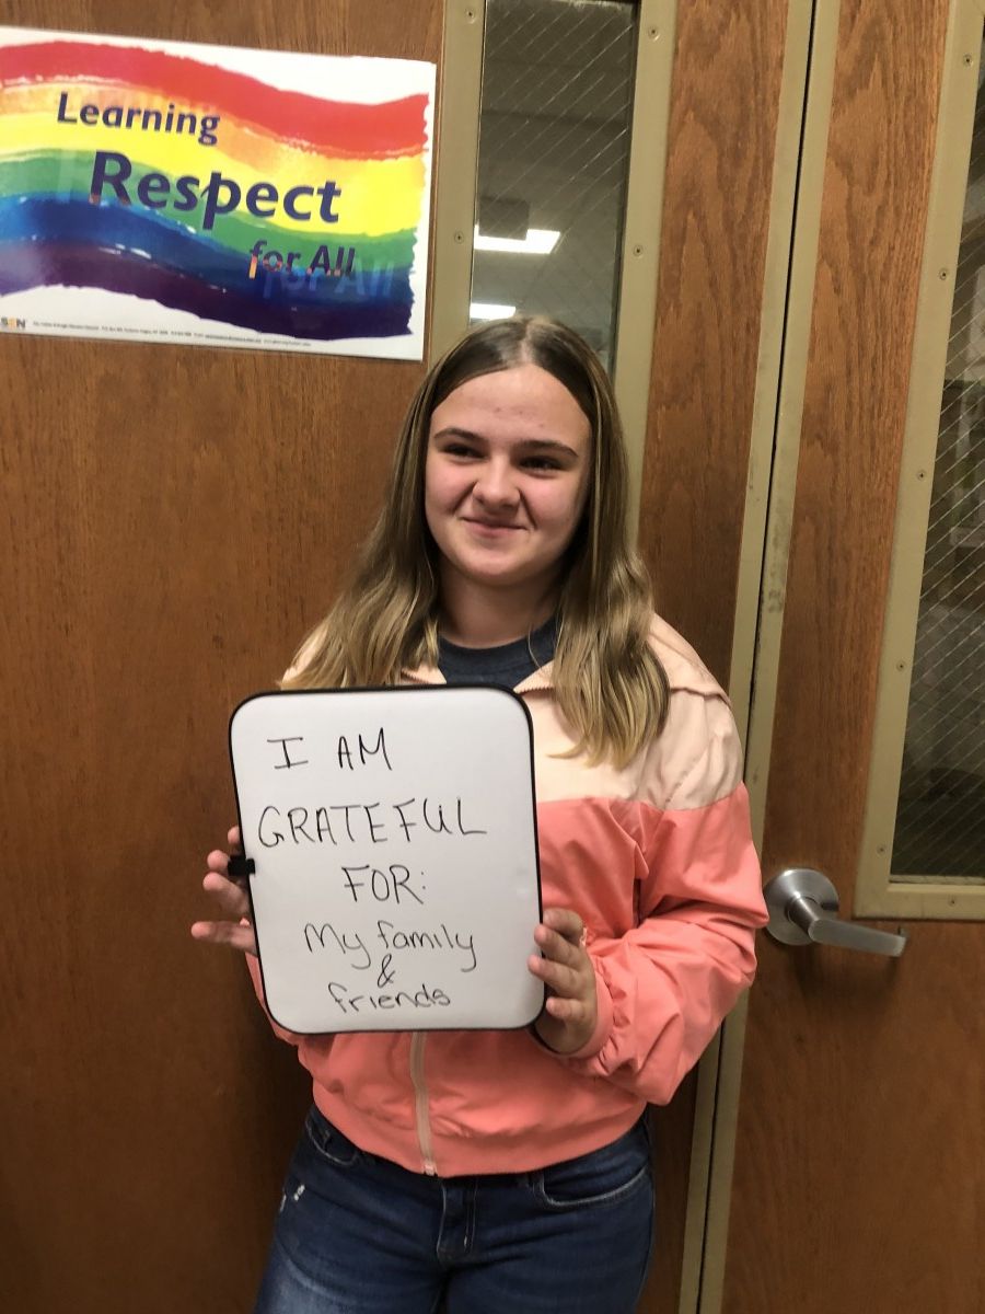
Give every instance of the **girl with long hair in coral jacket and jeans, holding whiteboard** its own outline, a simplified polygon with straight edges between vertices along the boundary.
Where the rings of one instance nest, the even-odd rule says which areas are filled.
[[[285,689],[515,690],[544,915],[528,1029],[292,1035],[314,1106],[257,1314],[630,1314],[644,1120],[697,1060],[766,921],[729,704],[653,615],[609,381],[563,326],[482,325],[422,384],[380,520]],[[230,832],[230,845],[238,845]],[[209,855],[247,953],[248,901]]]

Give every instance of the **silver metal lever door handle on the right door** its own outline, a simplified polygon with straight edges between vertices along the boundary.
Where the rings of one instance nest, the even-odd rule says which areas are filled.
[[[763,895],[770,909],[767,930],[784,945],[837,945],[889,958],[898,958],[906,947],[905,934],[839,921],[838,891],[823,872],[812,867],[787,867],[766,886]]]

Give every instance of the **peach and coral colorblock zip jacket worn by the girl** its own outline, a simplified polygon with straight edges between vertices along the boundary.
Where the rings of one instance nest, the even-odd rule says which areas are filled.
[[[647,1101],[670,1100],[753,980],[766,909],[732,711],[658,618],[651,644],[670,712],[623,769],[557,756],[571,737],[550,665],[516,689],[533,720],[542,901],[586,922],[594,1035],[561,1056],[528,1030],[293,1035],[274,1026],[297,1046],[318,1108],[362,1150],[441,1176],[525,1172],[596,1150]],[[407,681],[443,677],[427,668]]]

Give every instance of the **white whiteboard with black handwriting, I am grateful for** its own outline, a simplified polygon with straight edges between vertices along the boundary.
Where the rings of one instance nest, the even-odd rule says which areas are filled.
[[[544,987],[531,720],[492,687],[257,694],[230,756],[292,1031],[525,1026]]]

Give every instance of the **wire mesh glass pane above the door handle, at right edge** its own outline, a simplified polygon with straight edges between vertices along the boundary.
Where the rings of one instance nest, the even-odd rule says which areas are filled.
[[[985,883],[985,50],[892,872],[893,879]]]

